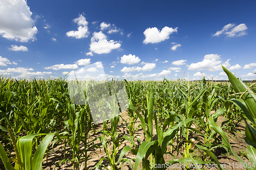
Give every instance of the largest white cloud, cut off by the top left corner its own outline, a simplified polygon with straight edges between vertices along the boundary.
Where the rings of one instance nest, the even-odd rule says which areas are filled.
[[[37,28],[31,18],[32,12],[24,0],[20,0],[19,3],[23,5],[0,6],[0,35],[20,42],[34,41]]]

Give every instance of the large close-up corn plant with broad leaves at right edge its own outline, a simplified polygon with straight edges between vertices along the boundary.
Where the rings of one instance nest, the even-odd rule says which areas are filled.
[[[256,118],[256,95],[255,90],[251,89],[251,87],[246,86],[241,79],[237,79],[229,70],[227,70],[224,66],[222,66],[223,70],[226,72],[228,79],[237,94],[240,95],[240,99],[233,99],[229,100],[226,103],[226,106],[228,106],[229,102],[234,103],[239,110],[241,110],[241,116],[245,120],[246,128],[245,128],[245,134],[246,137],[244,138],[247,143],[247,154],[250,162],[256,161],[256,130],[254,129],[256,127],[255,124],[255,118]],[[253,85],[253,84],[252,84]],[[251,86],[252,86],[251,85]],[[253,90],[253,91],[252,91]],[[227,108],[226,108],[227,109]],[[247,121],[251,122],[252,126],[248,125]],[[211,122],[215,127],[214,130],[219,133],[222,136],[223,144],[226,148],[231,150],[233,155],[242,163],[244,161],[237,156],[236,153],[234,153],[226,134],[220,129],[220,127],[214,123]],[[252,169],[251,167],[247,167],[247,169]]]

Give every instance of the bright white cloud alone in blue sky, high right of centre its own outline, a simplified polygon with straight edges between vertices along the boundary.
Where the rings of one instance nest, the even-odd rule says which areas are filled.
[[[158,43],[161,41],[164,41],[166,39],[169,39],[169,35],[177,32],[178,27],[175,29],[169,28],[169,27],[164,27],[162,30],[158,30],[156,27],[154,28],[147,28],[144,31],[145,39],[143,43]]]

